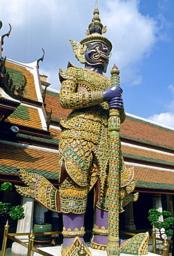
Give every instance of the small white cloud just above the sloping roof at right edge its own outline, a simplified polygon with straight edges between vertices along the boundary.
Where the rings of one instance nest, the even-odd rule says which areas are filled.
[[[174,113],[172,112],[160,113],[159,115],[155,114],[150,116],[148,120],[159,122],[160,124],[168,125],[169,127],[174,127]]]

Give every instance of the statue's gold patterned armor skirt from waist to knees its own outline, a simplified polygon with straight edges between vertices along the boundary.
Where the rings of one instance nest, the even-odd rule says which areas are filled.
[[[77,125],[77,122],[73,124]],[[88,192],[94,185],[97,207],[107,210],[109,157],[107,127],[101,122],[80,120],[80,118],[78,118],[79,129],[77,127],[67,129],[67,122],[61,122],[61,127],[59,143],[61,212],[85,212]]]

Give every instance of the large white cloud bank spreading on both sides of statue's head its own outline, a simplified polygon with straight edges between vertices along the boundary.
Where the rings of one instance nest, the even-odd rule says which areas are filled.
[[[59,67],[65,69],[68,61],[80,66],[68,38],[80,41],[86,37],[84,33],[93,18],[94,7],[95,1],[10,0],[7,4],[6,0],[1,0],[0,15],[6,27],[3,31],[8,30],[8,23],[12,25],[10,39],[6,39],[3,46],[3,55],[19,62],[33,62],[40,57],[43,48],[46,57],[41,67],[54,81]],[[108,28],[106,37],[113,43],[106,76],[110,77],[110,69],[116,63],[122,83],[141,84],[141,62],[151,54],[160,39],[165,20],[142,15],[139,0],[100,0],[99,12],[102,24]],[[50,69],[52,66],[54,68]],[[57,88],[57,82],[56,78],[52,86]]]

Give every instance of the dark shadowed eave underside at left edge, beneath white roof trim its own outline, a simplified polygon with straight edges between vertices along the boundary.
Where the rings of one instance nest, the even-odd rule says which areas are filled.
[[[14,110],[21,104],[20,102],[0,98],[0,122],[3,122],[10,116]]]

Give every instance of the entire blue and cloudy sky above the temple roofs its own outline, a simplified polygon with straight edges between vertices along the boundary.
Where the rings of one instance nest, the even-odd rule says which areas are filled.
[[[98,0],[99,17],[113,43],[107,77],[117,64],[128,113],[174,127],[174,1]],[[79,42],[93,18],[95,0],[1,0],[3,56],[29,63],[46,51],[39,72],[60,89],[57,73],[68,61],[82,66],[69,38]]]

